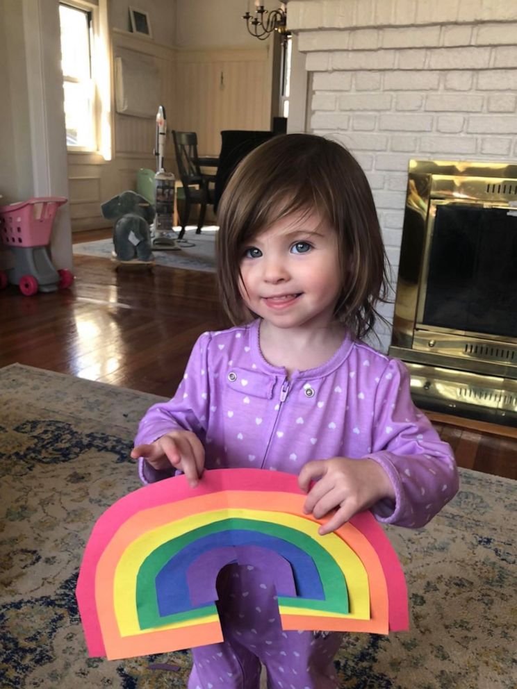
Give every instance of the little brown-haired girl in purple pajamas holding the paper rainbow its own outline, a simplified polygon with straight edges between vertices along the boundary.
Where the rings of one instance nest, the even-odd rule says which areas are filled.
[[[174,472],[298,474],[320,534],[371,509],[419,527],[458,488],[450,447],[413,406],[400,361],[361,342],[386,288],[366,176],[336,142],[281,135],[243,160],[219,209],[218,278],[235,327],[197,340],[174,397],[152,406],[131,456],[144,483]],[[336,687],[343,635],[282,631],[267,572],[218,578],[224,642],[193,649],[189,689]]]

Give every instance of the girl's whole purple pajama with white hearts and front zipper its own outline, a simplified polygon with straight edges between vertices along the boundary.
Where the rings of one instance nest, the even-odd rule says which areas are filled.
[[[388,524],[424,526],[458,489],[452,451],[413,405],[404,365],[346,337],[329,361],[288,377],[263,358],[258,320],[204,333],[176,394],[147,411],[135,444],[182,429],[202,441],[207,470],[299,474],[310,460],[371,458],[395,490],[395,501],[372,506],[377,520]],[[139,472],[144,483],[172,473],[156,472],[142,458]],[[189,688],[254,689],[259,658],[275,689],[334,687],[331,660],[341,635],[284,633],[271,582],[260,572],[238,573],[239,579],[221,583],[227,642],[194,649]]]

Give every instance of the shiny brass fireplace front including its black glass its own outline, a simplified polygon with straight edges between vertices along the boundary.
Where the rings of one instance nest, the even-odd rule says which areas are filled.
[[[517,426],[517,165],[410,160],[390,354],[422,408]]]

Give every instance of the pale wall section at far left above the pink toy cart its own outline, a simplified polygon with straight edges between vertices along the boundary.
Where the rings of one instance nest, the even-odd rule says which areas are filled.
[[[1,33],[6,45],[2,63],[9,97],[1,116],[2,138],[10,164],[1,170],[4,203],[31,197],[68,197],[63,76],[60,72],[59,17],[56,0],[3,0]],[[4,150],[2,149],[4,152]],[[69,207],[54,220],[50,249],[58,268],[72,267]],[[10,265],[2,251],[0,265]]]

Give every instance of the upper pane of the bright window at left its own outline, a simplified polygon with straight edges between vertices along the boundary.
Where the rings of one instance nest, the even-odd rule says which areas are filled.
[[[59,6],[61,68],[65,76],[79,81],[90,78],[90,21],[88,13]]]

